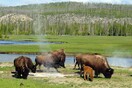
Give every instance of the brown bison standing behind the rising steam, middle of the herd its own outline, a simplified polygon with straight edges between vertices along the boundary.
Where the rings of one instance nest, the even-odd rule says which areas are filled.
[[[47,55],[38,55],[35,58],[36,66],[40,66],[43,64],[45,67],[54,67],[56,70],[57,68],[64,67],[65,68],[65,53],[64,50],[58,50],[58,51],[53,51],[50,54]]]

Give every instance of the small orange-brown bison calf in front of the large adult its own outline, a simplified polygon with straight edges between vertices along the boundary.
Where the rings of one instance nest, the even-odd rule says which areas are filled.
[[[89,75],[89,80],[90,81],[93,81],[93,78],[94,78],[94,76],[93,76],[93,69],[91,68],[91,67],[89,67],[89,66],[85,66],[84,64],[83,64],[83,76],[84,76],[84,80],[87,80],[87,78],[88,78],[88,76],[87,75]]]

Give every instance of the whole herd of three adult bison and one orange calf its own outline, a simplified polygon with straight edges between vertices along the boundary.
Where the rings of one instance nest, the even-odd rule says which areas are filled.
[[[29,72],[35,73],[37,66],[39,66],[39,70],[41,70],[41,65],[47,69],[51,67],[56,70],[60,67],[65,68],[65,58],[66,54],[64,49],[36,56],[35,64],[29,57],[17,57],[14,59],[15,77],[27,79]],[[84,77],[84,80],[89,79],[93,81],[94,76],[98,77],[100,73],[102,73],[105,78],[111,78],[114,73],[114,69],[109,66],[106,57],[100,54],[77,54],[75,55],[74,61],[75,66],[73,69],[76,69],[76,65],[78,65],[80,76]]]

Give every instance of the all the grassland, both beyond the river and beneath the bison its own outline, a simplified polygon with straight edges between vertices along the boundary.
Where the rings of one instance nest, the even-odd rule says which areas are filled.
[[[47,52],[64,48],[66,54],[76,53],[100,53],[112,56],[114,52],[120,56],[131,57],[132,37],[131,36],[25,36],[14,35],[6,40],[16,41],[50,41],[63,42],[62,44],[49,45],[0,45],[0,52],[9,53],[35,53]],[[45,51],[43,51],[43,49]],[[79,70],[73,70],[73,65],[66,68],[59,68],[62,74],[71,74],[62,78],[51,77],[28,77],[27,80],[12,77],[14,70],[12,63],[9,66],[2,66],[0,63],[0,86],[2,88],[132,88],[132,68],[114,68],[111,79],[106,79],[102,74],[94,78],[93,82],[84,81],[78,74]],[[75,74],[72,76],[72,74]]]

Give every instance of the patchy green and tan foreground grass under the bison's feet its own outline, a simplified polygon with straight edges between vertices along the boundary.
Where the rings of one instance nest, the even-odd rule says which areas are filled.
[[[132,68],[112,67],[115,72],[111,79],[106,79],[102,74],[94,78],[93,82],[85,81],[73,70],[73,66],[59,68],[62,74],[75,74],[65,77],[31,77],[27,80],[12,77],[14,67],[0,67],[0,86],[2,88],[131,88]]]

